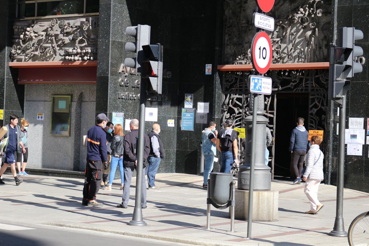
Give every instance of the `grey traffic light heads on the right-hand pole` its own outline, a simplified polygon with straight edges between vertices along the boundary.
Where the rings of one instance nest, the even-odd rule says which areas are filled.
[[[350,81],[346,78],[354,77],[363,68],[355,57],[363,55],[363,49],[355,45],[355,41],[363,38],[363,32],[354,27],[342,27],[339,30],[339,46],[331,47],[329,65],[328,98],[342,98],[342,89]]]

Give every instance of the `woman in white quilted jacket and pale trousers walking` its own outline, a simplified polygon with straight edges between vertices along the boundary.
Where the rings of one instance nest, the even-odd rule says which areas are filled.
[[[304,192],[310,201],[310,210],[306,214],[316,214],[322,207],[318,200],[318,189],[323,176],[323,152],[319,149],[321,143],[319,136],[312,136],[310,149],[305,156],[306,170],[303,174],[305,183]]]

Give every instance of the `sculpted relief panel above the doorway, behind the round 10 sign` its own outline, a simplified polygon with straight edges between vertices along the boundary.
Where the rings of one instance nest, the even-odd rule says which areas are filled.
[[[252,17],[255,0],[224,2],[224,64],[250,64],[255,35]],[[331,37],[331,4],[322,0],[276,0],[268,15],[275,30],[273,63],[322,62],[328,60]]]

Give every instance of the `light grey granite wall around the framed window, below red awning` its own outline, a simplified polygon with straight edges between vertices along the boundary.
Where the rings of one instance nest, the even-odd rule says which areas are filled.
[[[94,125],[95,84],[26,85],[24,117],[29,122],[28,167],[81,171],[86,166],[83,135]],[[70,136],[50,135],[51,96],[72,96]],[[37,120],[44,113],[44,120]]]

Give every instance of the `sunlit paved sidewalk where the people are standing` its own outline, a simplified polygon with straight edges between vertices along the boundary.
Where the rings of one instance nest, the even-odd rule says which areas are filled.
[[[325,184],[320,185],[318,193],[324,208],[309,215],[304,214],[310,209],[304,184],[272,181],[272,190],[279,191],[278,220],[253,222],[250,240],[246,238],[247,221],[236,219],[236,232],[228,232],[228,209],[211,207],[211,230],[206,230],[207,191],[202,188],[202,176],[157,174],[155,184],[161,189],[147,191],[148,208],[142,209],[147,226],[127,225],[134,209],[135,178],[128,208],[121,209],[115,207],[121,202],[120,180],[115,180],[111,191],[100,189],[97,200],[104,207],[95,208],[81,205],[82,179],[30,175],[15,186],[13,177],[3,177],[7,183],[0,185],[3,223],[16,219],[28,225],[82,228],[193,245],[348,245],[346,237],[327,235],[335,220],[336,187]],[[345,189],[345,230],[365,211],[369,211],[369,194]]]

